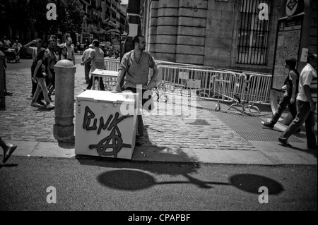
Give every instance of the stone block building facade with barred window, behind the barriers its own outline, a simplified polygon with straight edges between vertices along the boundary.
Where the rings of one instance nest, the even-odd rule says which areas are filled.
[[[311,15],[307,45],[317,52],[317,1],[304,2]],[[295,6],[290,0],[145,0],[147,50],[163,61],[272,73],[287,3]]]

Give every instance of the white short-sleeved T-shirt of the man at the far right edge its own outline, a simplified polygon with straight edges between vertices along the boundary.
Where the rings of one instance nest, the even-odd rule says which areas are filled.
[[[304,85],[308,85],[310,87],[312,100],[317,102],[317,72],[309,63],[307,63],[307,66],[305,66],[300,73],[299,93],[297,96],[298,100],[309,102],[305,95]]]

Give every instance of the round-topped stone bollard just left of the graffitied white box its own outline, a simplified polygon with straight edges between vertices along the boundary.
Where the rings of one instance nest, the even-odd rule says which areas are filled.
[[[58,61],[55,72],[54,138],[58,142],[75,142],[74,136],[74,78],[76,66],[69,60]]]

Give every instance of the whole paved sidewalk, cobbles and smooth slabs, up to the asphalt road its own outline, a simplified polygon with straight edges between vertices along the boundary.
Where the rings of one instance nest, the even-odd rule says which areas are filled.
[[[0,136],[18,145],[13,155],[23,157],[76,157],[74,145],[53,137],[54,110],[30,106],[30,68],[6,72],[6,111],[0,111]],[[81,94],[84,68],[76,65],[75,96]],[[54,99],[54,96],[52,96]],[[167,111],[178,104],[174,95],[159,102]],[[200,162],[220,164],[317,164],[317,150],[307,150],[305,133],[290,138],[292,148],[279,145],[277,138],[285,126],[264,129],[261,121],[271,118],[269,107],[261,115],[247,116],[240,109],[228,111],[228,104],[199,99],[192,107],[174,115],[157,116],[144,112],[145,136],[135,147],[131,160],[150,162]],[[74,102],[74,115],[76,106]],[[248,111],[247,111],[248,112]],[[190,121],[196,115],[196,121]],[[257,115],[257,114],[254,114]],[[73,123],[76,124],[75,118]],[[302,128],[305,130],[305,128]],[[317,132],[317,126],[316,126]],[[2,152],[0,152],[2,154]],[[117,160],[117,159],[110,159]]]

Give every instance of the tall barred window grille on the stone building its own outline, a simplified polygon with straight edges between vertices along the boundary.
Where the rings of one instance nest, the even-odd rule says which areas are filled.
[[[238,32],[237,63],[266,65],[271,0],[242,0]],[[261,19],[260,4],[268,6],[268,17]],[[264,8],[263,8],[264,9]]]

